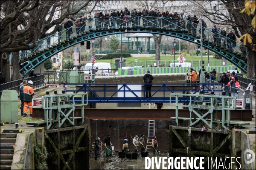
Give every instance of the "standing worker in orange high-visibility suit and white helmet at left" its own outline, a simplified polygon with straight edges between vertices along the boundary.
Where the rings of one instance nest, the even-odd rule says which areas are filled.
[[[34,96],[34,90],[32,88],[33,82],[29,80],[28,85],[23,88],[23,94],[24,94],[24,108],[23,108],[23,117],[26,117],[26,112],[29,107],[30,116],[32,117],[33,114],[33,105],[32,105],[32,99]]]

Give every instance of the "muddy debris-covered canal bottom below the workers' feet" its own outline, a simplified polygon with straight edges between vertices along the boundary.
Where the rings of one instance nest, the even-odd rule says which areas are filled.
[[[113,156],[110,157],[105,155],[105,153],[102,153],[102,159],[98,155],[98,160],[94,160],[94,153],[91,152],[90,170],[145,170],[145,158],[121,159],[118,152],[112,153]],[[167,154],[163,153],[160,156],[167,156]],[[148,157],[154,157],[153,153],[150,153]]]

